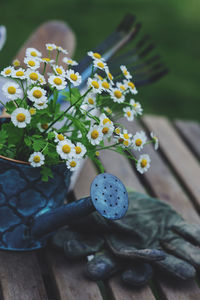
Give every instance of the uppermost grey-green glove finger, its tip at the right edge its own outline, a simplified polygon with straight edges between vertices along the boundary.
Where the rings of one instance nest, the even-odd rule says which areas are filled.
[[[172,227],[172,229],[181,236],[200,245],[200,226],[197,224],[188,224],[181,222]]]

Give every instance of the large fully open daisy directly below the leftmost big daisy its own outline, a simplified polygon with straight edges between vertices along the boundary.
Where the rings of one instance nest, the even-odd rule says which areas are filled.
[[[26,127],[31,121],[31,114],[27,109],[16,108],[11,114],[12,123],[19,128]]]

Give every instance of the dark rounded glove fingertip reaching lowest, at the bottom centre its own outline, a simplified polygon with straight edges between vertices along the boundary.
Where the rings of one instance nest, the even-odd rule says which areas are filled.
[[[131,265],[122,273],[122,280],[129,286],[143,286],[153,276],[153,269],[149,264],[138,262]]]

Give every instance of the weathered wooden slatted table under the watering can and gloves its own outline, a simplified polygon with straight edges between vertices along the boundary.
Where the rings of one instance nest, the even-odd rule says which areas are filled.
[[[146,147],[152,160],[143,176],[135,172],[126,158],[105,151],[101,155],[107,172],[118,176],[125,185],[146,191],[171,204],[186,220],[200,223],[200,124],[189,121],[169,122],[166,118],[145,116],[142,124],[129,126],[133,133],[145,128],[159,137],[160,149]],[[74,188],[75,197],[89,194],[96,170],[86,161]],[[128,289],[118,276],[95,283],[83,276],[85,261],[71,262],[52,249],[39,252],[0,252],[2,300],[199,300],[199,276],[178,282],[155,275],[151,285]],[[173,282],[172,282],[173,281]]]

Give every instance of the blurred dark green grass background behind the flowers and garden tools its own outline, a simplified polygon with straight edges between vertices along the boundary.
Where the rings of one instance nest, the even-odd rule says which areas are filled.
[[[199,0],[0,0],[0,24],[8,40],[0,55],[7,66],[36,27],[50,19],[66,21],[77,36],[76,59],[95,47],[133,13],[149,33],[156,52],[170,69],[160,81],[140,88],[145,113],[200,121]]]

